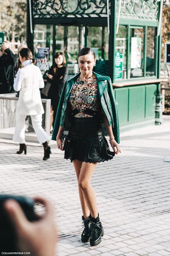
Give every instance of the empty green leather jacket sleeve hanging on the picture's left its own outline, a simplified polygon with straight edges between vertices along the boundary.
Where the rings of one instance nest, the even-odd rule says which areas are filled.
[[[63,106],[63,103],[64,103],[65,89],[66,89],[66,82],[65,82],[64,87],[62,89],[62,93],[61,93],[59,103],[58,103],[57,114],[56,114],[56,117],[55,117],[55,122],[54,122],[54,127],[53,127],[53,132],[52,132],[52,138],[51,138],[51,140],[53,140],[53,141],[56,141],[59,126],[61,125],[62,127],[64,127],[64,124],[60,123],[60,118],[61,118],[62,106]]]

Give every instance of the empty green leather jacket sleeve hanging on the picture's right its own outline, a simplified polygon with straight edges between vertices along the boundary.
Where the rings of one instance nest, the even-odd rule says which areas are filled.
[[[119,118],[118,118],[118,110],[116,106],[116,100],[113,92],[113,86],[112,86],[112,81],[110,78],[108,78],[108,93],[109,93],[109,98],[111,101],[112,105],[112,111],[113,111],[113,118],[114,118],[114,127],[113,127],[113,135],[115,137],[116,142],[120,143],[119,140]]]

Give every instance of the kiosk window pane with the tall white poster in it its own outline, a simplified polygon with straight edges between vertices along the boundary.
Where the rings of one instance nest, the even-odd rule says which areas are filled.
[[[143,38],[143,28],[130,28],[130,78],[143,76]]]

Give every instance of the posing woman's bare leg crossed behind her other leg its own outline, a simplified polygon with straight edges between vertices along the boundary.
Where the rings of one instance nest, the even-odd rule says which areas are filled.
[[[78,161],[78,160],[74,160],[72,161],[74,164],[74,168],[75,168],[75,172],[76,172],[76,176],[77,176],[77,181],[79,179],[79,174],[81,171],[81,167],[82,167],[82,162]],[[78,186],[78,192],[79,192],[79,198],[80,198],[80,203],[81,203],[81,209],[82,209],[82,213],[85,219],[88,219],[89,215],[90,215],[90,211],[89,208],[86,204],[86,200],[84,198],[83,192],[81,190],[81,188]]]

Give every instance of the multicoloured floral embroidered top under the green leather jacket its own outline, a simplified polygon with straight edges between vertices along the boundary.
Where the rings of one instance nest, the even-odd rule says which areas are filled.
[[[69,96],[69,102],[72,110],[79,110],[79,113],[75,117],[93,117],[92,115],[83,113],[87,108],[93,111],[101,111],[97,80],[94,74],[86,81],[82,81],[80,78],[75,81]]]

